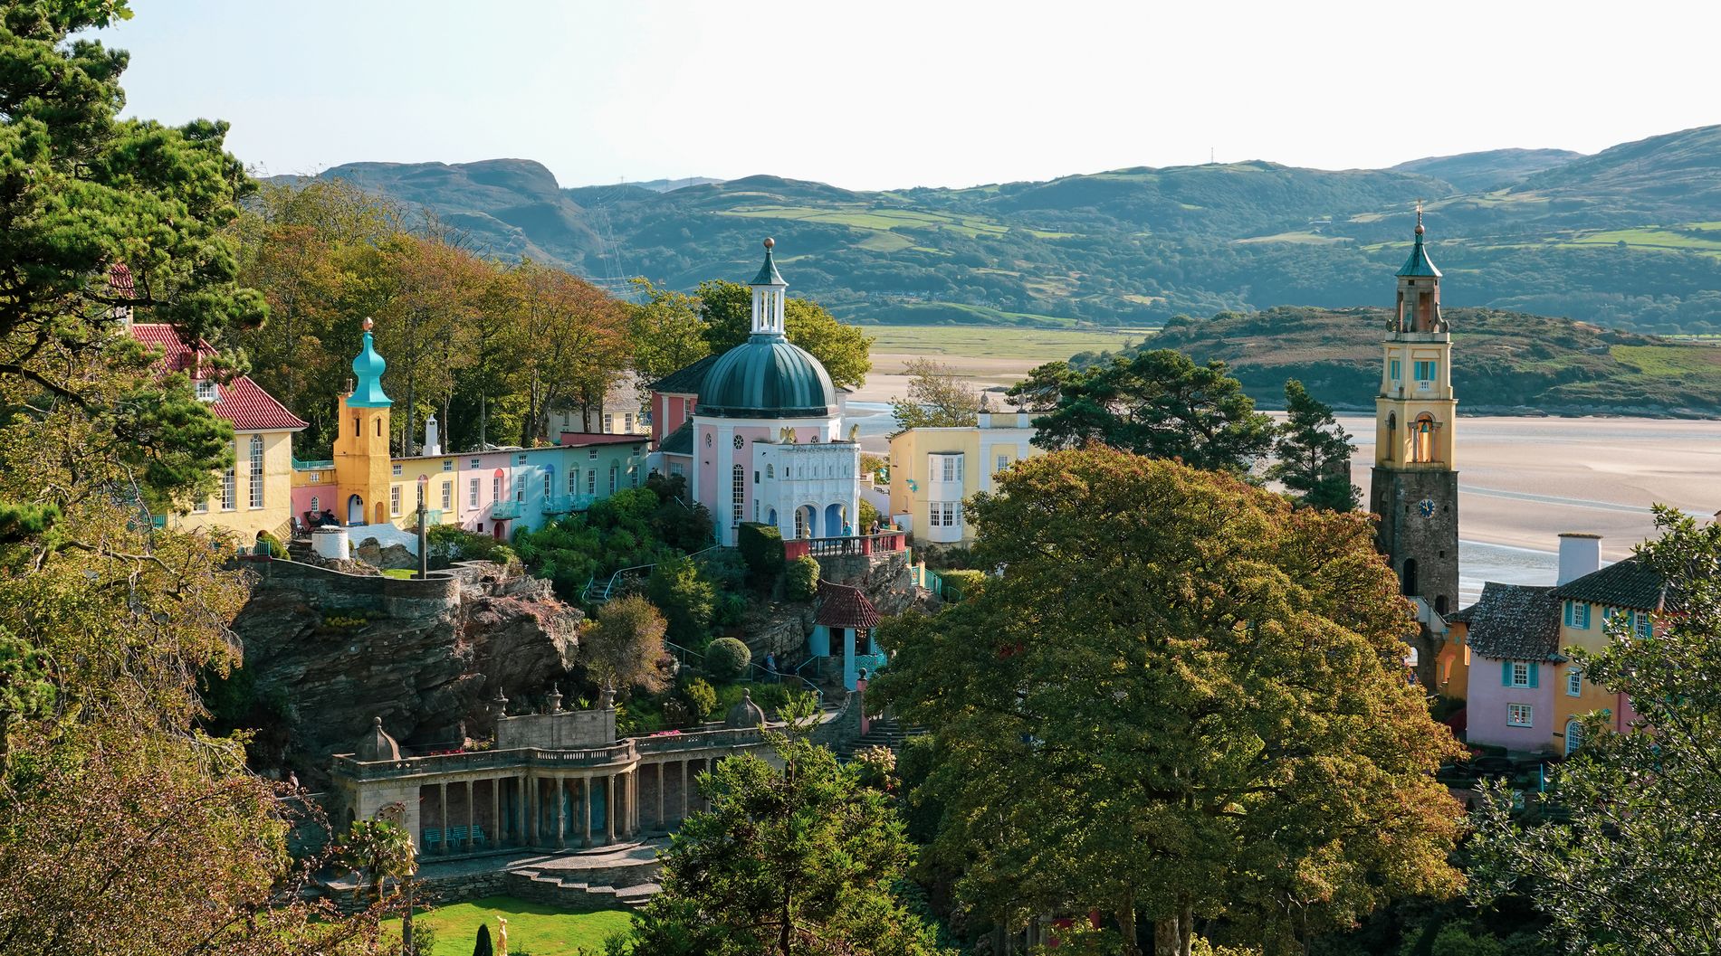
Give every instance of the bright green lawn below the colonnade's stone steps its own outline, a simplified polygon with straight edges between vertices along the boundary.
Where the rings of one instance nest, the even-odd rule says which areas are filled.
[[[508,920],[509,956],[573,956],[580,949],[601,953],[606,939],[633,923],[633,913],[628,910],[564,913],[544,903],[487,896],[418,913],[413,916],[413,925],[435,927],[437,956],[463,956],[472,953],[480,925],[489,923],[490,944],[496,944],[497,916]],[[389,920],[391,932],[399,934],[399,920]]]

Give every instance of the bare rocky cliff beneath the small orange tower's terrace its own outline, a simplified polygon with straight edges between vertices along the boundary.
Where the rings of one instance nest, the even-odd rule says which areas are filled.
[[[287,702],[286,763],[313,786],[372,717],[418,753],[461,746],[468,731],[489,734],[497,691],[540,691],[578,650],[580,610],[549,581],[499,564],[458,564],[429,581],[256,567],[234,631],[258,696]]]

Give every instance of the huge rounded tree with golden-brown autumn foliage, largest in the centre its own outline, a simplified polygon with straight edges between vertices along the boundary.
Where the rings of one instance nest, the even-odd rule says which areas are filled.
[[[869,688],[938,739],[917,800],[981,915],[1110,913],[1126,953],[1301,953],[1394,894],[1449,894],[1456,753],[1360,514],[1103,447],[1027,459],[969,509],[1003,566],[879,629]],[[1093,516],[1105,516],[1095,519]]]

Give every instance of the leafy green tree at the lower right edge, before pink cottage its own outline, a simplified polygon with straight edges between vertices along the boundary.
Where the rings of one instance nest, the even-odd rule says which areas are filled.
[[[1575,953],[1697,956],[1721,951],[1721,523],[1666,506],[1637,561],[1664,583],[1650,634],[1621,614],[1607,648],[1571,655],[1583,677],[1625,695],[1637,722],[1602,710],[1549,781],[1564,822],[1514,818],[1496,787],[1477,813],[1473,894],[1523,894]]]

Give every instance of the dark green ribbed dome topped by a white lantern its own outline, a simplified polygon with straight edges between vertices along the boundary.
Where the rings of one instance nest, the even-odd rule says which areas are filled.
[[[754,335],[723,352],[699,389],[697,414],[817,418],[836,409],[836,389],[819,359],[781,335]]]

